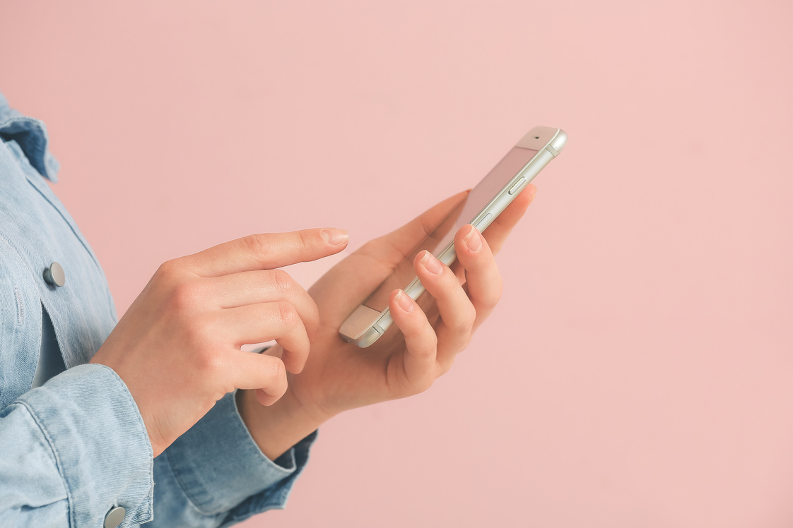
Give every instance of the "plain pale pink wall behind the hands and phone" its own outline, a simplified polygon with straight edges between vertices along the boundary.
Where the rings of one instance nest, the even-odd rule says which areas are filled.
[[[354,249],[569,132],[454,370],[327,424],[247,528],[793,526],[791,2],[50,4],[4,2],[0,89],[122,313],[163,260]]]

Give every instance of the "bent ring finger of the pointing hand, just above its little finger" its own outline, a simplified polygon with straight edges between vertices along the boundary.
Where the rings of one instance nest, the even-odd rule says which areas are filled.
[[[262,302],[223,310],[220,328],[237,347],[275,340],[284,349],[286,370],[297,374],[305,366],[311,342],[297,309],[289,302]]]

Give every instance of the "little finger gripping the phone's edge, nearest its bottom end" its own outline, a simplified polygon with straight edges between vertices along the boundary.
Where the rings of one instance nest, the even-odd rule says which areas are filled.
[[[423,392],[435,381],[438,370],[435,363],[438,344],[435,330],[416,302],[404,291],[397,290],[391,294],[389,309],[394,324],[404,336],[403,367],[408,384],[405,392]]]

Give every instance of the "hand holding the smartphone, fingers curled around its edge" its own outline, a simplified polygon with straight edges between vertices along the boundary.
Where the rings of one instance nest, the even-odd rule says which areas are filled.
[[[339,336],[347,316],[374,291],[416,244],[465,197],[444,200],[406,226],[363,245],[326,273],[308,293],[320,310],[320,328],[300,374],[289,374],[281,401],[262,407],[255,391],[239,391],[243,420],[262,451],[277,458],[324,421],[350,408],[411,396],[426,390],[450,369],[458,352],[492,312],[502,283],[493,254],[523,216],[536,188],[528,185],[483,236],[463,226],[454,237],[455,271],[430,253],[416,256],[414,268],[428,294],[419,306],[393,291],[392,328],[370,348]],[[274,346],[267,355],[281,355]]]

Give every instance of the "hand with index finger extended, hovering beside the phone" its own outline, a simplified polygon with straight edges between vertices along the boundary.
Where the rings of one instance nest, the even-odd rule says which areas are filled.
[[[257,234],[159,267],[91,363],[121,377],[154,456],[225,393],[259,389],[271,405],[303,369],[319,332],[315,302],[280,268],[338,253],[343,230]],[[282,358],[240,351],[276,340]],[[259,405],[261,407],[261,405]]]

